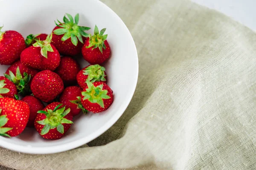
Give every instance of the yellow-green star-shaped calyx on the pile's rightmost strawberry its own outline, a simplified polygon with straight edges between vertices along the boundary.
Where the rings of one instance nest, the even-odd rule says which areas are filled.
[[[103,99],[110,99],[108,96],[108,90],[102,90],[103,84],[95,87],[92,82],[87,81],[88,88],[86,91],[83,91],[81,94],[84,96],[84,100],[88,99],[91,103],[98,103],[102,108],[104,107]]]

